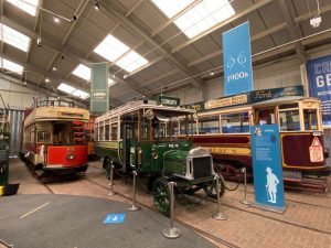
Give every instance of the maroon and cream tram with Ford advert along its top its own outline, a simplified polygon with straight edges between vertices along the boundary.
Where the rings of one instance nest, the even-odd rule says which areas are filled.
[[[277,123],[281,161],[288,187],[325,190],[325,165],[320,100],[303,97],[303,88],[255,90],[193,105],[197,110],[193,142],[209,149],[225,177],[239,177],[238,169],[252,172],[249,126]],[[318,157],[317,157],[318,152]]]

